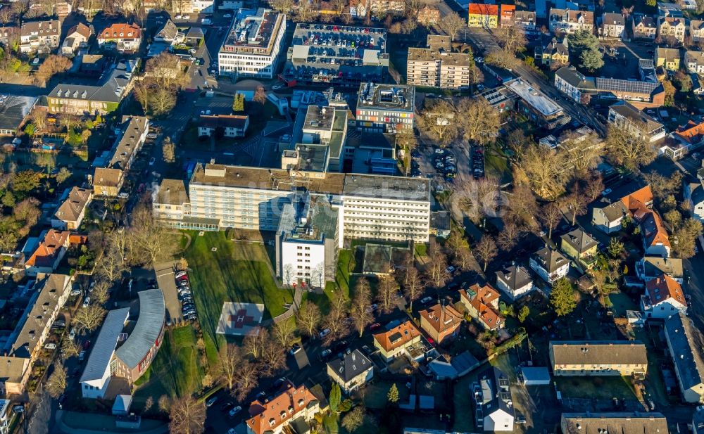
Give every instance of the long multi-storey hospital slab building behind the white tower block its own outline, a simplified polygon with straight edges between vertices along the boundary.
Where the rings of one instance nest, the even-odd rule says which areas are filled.
[[[339,247],[345,237],[428,241],[427,179],[210,163],[196,165],[187,203],[173,197],[181,193],[163,191],[165,182],[173,181],[162,182],[153,210],[161,221],[177,228],[277,231],[285,206],[307,192],[338,210]]]

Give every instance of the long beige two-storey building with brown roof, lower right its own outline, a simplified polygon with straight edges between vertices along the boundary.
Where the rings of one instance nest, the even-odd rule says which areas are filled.
[[[646,374],[643,343],[633,341],[552,341],[550,362],[555,376],[630,376]]]

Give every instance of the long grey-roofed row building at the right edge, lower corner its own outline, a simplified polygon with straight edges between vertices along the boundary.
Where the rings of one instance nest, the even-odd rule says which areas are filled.
[[[704,404],[704,335],[679,313],[665,319],[665,340],[682,399]]]

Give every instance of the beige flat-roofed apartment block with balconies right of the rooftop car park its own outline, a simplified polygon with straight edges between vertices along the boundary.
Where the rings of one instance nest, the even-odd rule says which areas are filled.
[[[441,89],[470,87],[472,68],[469,54],[452,53],[450,37],[429,35],[427,46],[425,49],[408,49],[408,84]]]

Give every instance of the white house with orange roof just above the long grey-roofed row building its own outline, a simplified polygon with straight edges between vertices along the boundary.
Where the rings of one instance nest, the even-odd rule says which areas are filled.
[[[687,312],[682,287],[667,276],[660,274],[646,282],[646,293],[641,295],[641,310],[648,318],[667,318],[670,315]]]

